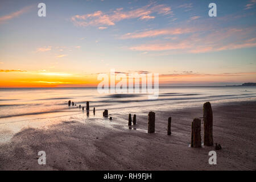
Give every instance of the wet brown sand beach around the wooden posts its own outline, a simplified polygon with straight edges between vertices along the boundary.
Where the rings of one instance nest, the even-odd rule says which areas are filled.
[[[216,151],[217,165],[208,163],[208,152],[214,147],[188,147],[191,122],[203,116],[198,106],[172,112],[152,110],[156,113],[154,134],[147,134],[147,113],[137,114],[137,125],[129,129],[129,113],[117,115],[111,110],[113,121],[89,117],[69,119],[48,129],[24,129],[0,145],[0,169],[256,170],[256,102],[212,105],[212,109],[213,142],[222,146]],[[168,117],[172,117],[171,136],[167,135]],[[46,151],[46,165],[38,164],[38,151]]]

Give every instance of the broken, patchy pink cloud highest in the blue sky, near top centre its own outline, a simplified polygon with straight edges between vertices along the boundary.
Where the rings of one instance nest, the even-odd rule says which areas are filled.
[[[123,11],[122,8],[115,9],[109,13],[103,13],[102,11],[95,11],[92,14],[75,15],[71,17],[71,21],[76,26],[114,26],[116,22],[124,19],[152,19],[155,16],[150,16],[152,13],[161,15],[172,14],[171,7],[166,5],[155,5],[150,3],[147,6],[143,6],[138,9]]]

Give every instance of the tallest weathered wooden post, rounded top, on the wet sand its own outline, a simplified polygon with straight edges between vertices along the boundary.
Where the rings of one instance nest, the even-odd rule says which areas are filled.
[[[213,146],[213,114],[210,102],[205,102],[203,106],[204,117],[204,146]]]

